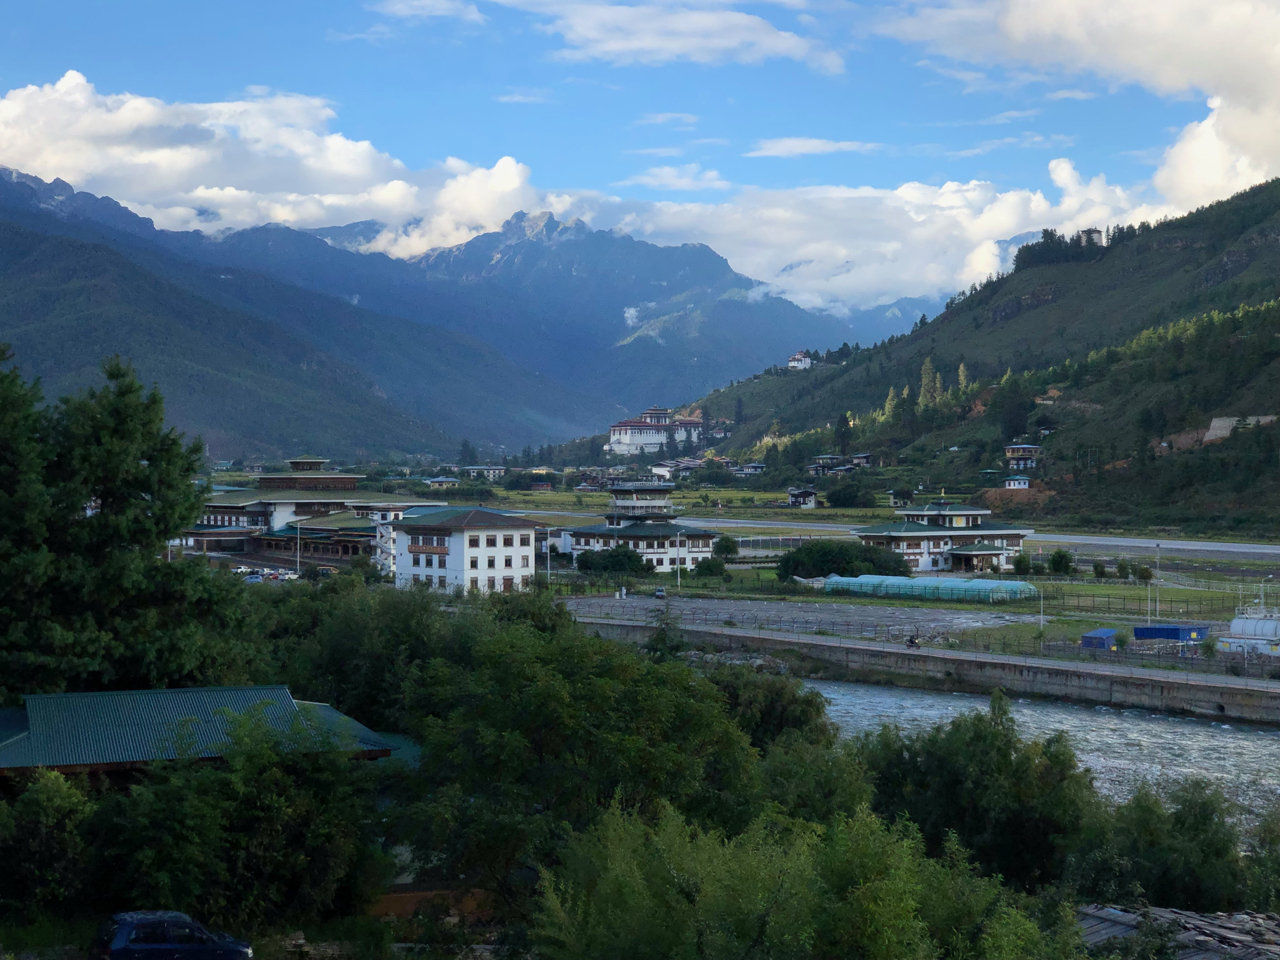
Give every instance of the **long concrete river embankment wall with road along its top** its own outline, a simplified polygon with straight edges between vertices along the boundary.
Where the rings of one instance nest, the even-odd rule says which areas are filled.
[[[626,643],[645,643],[654,632],[654,627],[646,623],[593,617],[581,617],[579,622],[605,639]],[[731,627],[685,627],[681,634],[692,646],[790,650],[837,664],[851,680],[867,682],[975,694],[1000,689],[1019,696],[1280,724],[1280,682],[1275,681],[932,648],[909,649],[900,644],[750,632]]]

